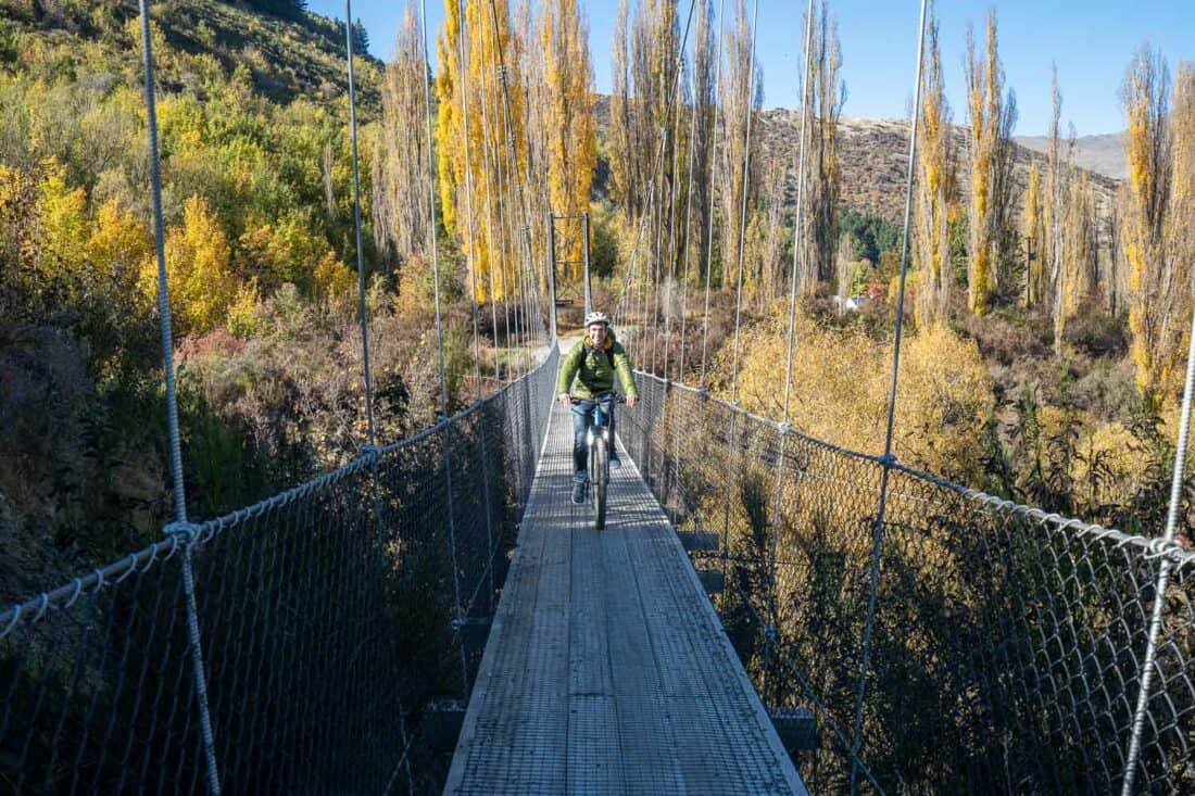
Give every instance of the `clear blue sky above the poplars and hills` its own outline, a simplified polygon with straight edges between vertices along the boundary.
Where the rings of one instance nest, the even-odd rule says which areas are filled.
[[[405,0],[357,0],[353,16],[369,31],[370,51],[388,59]],[[416,0],[417,1],[417,0]],[[452,0],[455,1],[455,0]],[[748,0],[748,10],[755,0]],[[766,106],[795,108],[796,75],[801,69],[802,0],[759,0],[759,62],[764,69]],[[427,0],[429,24],[437,30],[443,0]],[[589,17],[589,45],[599,91],[608,91],[611,37],[617,0],[583,2]],[[713,0],[717,10],[718,0]],[[730,0],[727,7],[730,7]],[[633,6],[633,0],[632,0]],[[344,0],[308,0],[321,14],[344,18]],[[1050,63],[1058,65],[1062,92],[1062,125],[1074,123],[1079,135],[1123,128],[1117,91],[1133,50],[1148,41],[1171,65],[1195,61],[1195,1],[1087,0],[1042,2],[1016,0],[938,0],[942,65],[954,120],[963,112],[963,48],[967,23],[982,26],[989,7],[997,11],[1000,57],[1007,85],[1016,91],[1017,134],[1044,134],[1049,125]],[[688,4],[681,0],[681,13]],[[872,118],[907,115],[913,97],[917,60],[918,0],[831,0],[839,19],[842,78],[847,99],[844,114]]]

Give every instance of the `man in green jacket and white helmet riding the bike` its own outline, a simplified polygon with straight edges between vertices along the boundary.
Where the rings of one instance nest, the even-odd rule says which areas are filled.
[[[603,312],[586,316],[586,336],[565,355],[560,374],[556,380],[556,392],[562,404],[568,406],[572,398],[581,400],[572,406],[572,502],[586,502],[586,470],[589,452],[586,449],[586,431],[593,424],[596,404],[609,418],[609,434],[614,439],[614,374],[626,393],[626,405],[635,406],[638,392],[631,360],[626,349],[614,339],[609,318]],[[609,466],[618,470],[623,463],[611,447]]]

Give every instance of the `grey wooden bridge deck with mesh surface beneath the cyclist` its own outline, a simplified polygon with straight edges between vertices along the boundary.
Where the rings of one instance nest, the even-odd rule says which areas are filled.
[[[570,446],[554,405],[445,792],[804,794],[633,463],[594,531]]]

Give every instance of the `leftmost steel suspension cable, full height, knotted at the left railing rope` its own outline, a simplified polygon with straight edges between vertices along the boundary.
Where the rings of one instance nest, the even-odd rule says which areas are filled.
[[[208,708],[208,678],[203,665],[203,645],[200,633],[198,606],[195,600],[195,570],[191,549],[196,539],[196,526],[186,519],[186,483],[183,478],[183,447],[178,428],[178,394],[174,385],[174,336],[170,317],[170,278],[166,273],[166,235],[161,213],[161,163],[158,157],[158,103],[154,97],[153,49],[149,36],[149,2],[140,0],[141,60],[145,69],[146,133],[149,149],[149,183],[153,197],[154,253],[158,258],[158,326],[161,333],[163,371],[166,381],[166,429],[170,437],[170,473],[173,485],[174,522],[167,525],[167,534],[185,537],[182,570],[183,592],[186,604],[186,632],[191,650],[191,676],[195,699],[200,710],[200,733],[203,737],[203,759],[208,790],[220,796],[220,769],[216,763],[215,733]]]

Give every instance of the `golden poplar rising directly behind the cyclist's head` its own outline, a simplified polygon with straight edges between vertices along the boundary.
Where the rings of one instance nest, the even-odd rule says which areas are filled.
[[[594,118],[593,69],[589,61],[589,25],[577,0],[544,4],[540,43],[547,78],[546,115],[549,195],[552,212],[580,215],[589,208],[589,188],[598,166],[598,123]],[[563,252],[581,276],[581,240]]]

